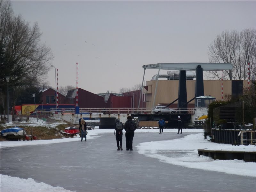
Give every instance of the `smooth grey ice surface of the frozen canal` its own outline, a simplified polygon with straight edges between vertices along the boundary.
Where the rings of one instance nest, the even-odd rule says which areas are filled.
[[[124,150],[116,151],[113,133],[87,142],[3,148],[0,171],[71,191],[255,191],[255,178],[162,163],[136,151],[138,143],[178,137],[135,133],[133,151],[125,150],[125,135]]]

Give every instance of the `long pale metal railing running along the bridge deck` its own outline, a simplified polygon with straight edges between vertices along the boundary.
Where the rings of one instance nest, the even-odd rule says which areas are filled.
[[[170,112],[155,112],[152,108],[79,108],[79,113],[88,114],[195,114],[195,108],[172,108]],[[74,114],[75,108],[36,109],[37,115]],[[34,111],[33,114],[36,112]]]

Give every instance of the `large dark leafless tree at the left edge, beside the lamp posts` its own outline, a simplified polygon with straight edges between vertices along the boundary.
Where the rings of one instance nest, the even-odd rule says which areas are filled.
[[[53,55],[49,47],[40,43],[41,35],[37,23],[30,27],[13,13],[10,1],[0,1],[1,99],[6,94],[5,76],[11,77],[9,87],[14,104],[21,89],[39,86],[45,80]]]

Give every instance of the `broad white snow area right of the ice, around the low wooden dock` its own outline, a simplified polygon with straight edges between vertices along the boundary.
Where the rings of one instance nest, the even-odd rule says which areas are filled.
[[[187,130],[184,129],[183,132]],[[225,172],[242,176],[256,177],[255,162],[244,160],[214,160],[198,156],[197,149],[223,151],[256,151],[256,146],[232,146],[204,140],[204,133],[190,134],[181,139],[140,143],[136,146],[140,154],[156,158],[162,162],[188,168]]]

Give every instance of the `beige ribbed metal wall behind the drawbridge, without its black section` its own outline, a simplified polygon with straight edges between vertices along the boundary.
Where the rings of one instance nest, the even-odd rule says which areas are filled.
[[[195,97],[196,80],[187,80],[187,100]],[[244,87],[248,86],[248,80],[243,81]],[[147,108],[153,106],[156,81],[147,81]],[[160,103],[171,103],[178,98],[179,81],[178,80],[158,80],[155,105]],[[204,80],[204,96],[215,97],[221,100],[221,80]],[[232,95],[232,80],[223,80],[223,99],[225,95]],[[178,101],[174,102],[175,104]],[[190,103],[194,104],[194,100]],[[154,106],[155,106],[154,105]]]

